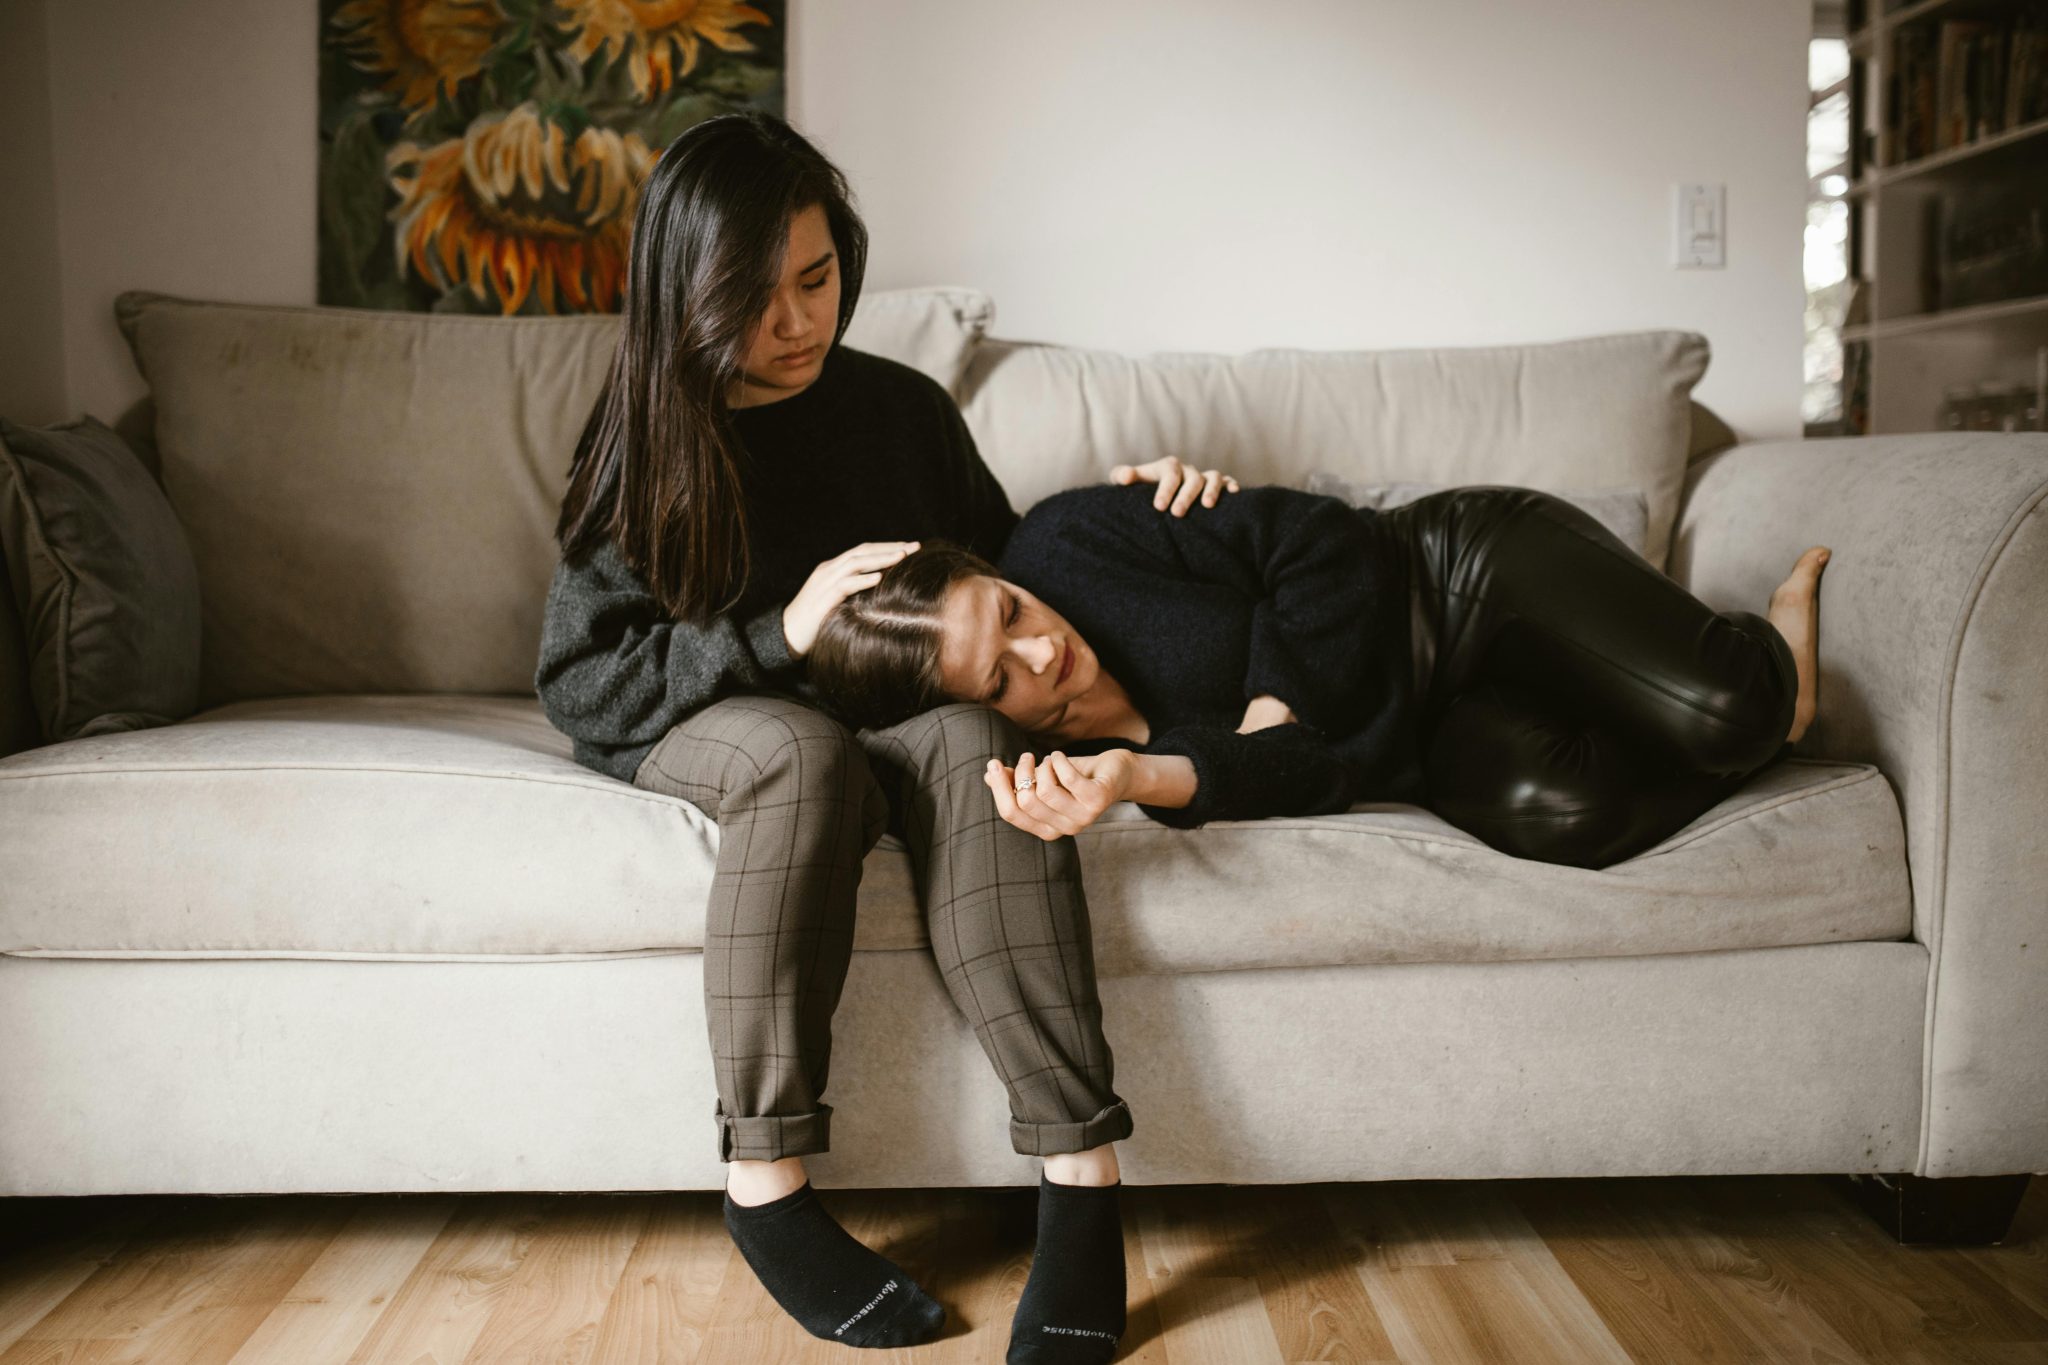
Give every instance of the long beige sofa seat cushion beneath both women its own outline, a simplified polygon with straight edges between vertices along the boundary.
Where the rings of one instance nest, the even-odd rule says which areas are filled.
[[[240,702],[0,759],[0,950],[694,950],[717,847],[688,802],[580,767],[532,700]],[[1776,763],[1599,872],[1507,857],[1417,806],[1178,831],[1126,804],[1079,847],[1104,976],[1706,952],[1911,925],[1898,806],[1864,763]],[[885,839],[856,948],[926,941],[909,860]]]

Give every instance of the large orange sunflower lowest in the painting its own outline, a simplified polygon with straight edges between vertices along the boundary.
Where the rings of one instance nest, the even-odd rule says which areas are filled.
[[[653,162],[637,133],[571,137],[532,100],[434,147],[399,143],[385,158],[399,192],[399,274],[410,262],[442,291],[496,299],[502,313],[528,297],[545,313],[616,311]]]

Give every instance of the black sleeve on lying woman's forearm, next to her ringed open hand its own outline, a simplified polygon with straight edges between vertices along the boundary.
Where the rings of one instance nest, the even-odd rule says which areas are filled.
[[[1352,776],[1309,724],[1274,724],[1239,735],[1214,724],[1182,724],[1145,753],[1178,753],[1194,763],[1194,800],[1139,810],[1176,829],[1268,814],[1335,814],[1352,806]]]

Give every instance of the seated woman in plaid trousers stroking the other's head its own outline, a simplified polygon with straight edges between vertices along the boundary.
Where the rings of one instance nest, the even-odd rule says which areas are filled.
[[[1073,845],[989,814],[981,759],[1022,743],[1004,716],[938,706],[856,735],[805,684],[817,622],[915,540],[993,555],[1016,524],[952,395],[840,344],[864,260],[842,172],[780,119],[723,115],[668,145],[569,467],[535,692],[580,763],[684,798],[723,835],[702,954],[713,1117],[725,1224],[762,1285],[840,1345],[915,1345],[944,1324],[803,1169],[831,1140],[854,892],[889,829],[926,888],[946,990],[1010,1093],[1010,1144],[1044,1156],[1010,1359],[1106,1361],[1124,1330],[1114,1144],[1133,1117]],[[1178,460],[1110,477],[1155,483],[1161,520],[1235,487]]]

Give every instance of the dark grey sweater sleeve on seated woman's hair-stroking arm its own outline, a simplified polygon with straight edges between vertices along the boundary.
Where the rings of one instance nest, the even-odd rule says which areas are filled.
[[[797,673],[776,602],[750,618],[672,620],[645,581],[600,540],[555,567],[541,620],[535,692],[549,722],[608,749],[659,741],[735,688]]]

